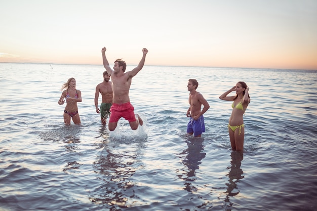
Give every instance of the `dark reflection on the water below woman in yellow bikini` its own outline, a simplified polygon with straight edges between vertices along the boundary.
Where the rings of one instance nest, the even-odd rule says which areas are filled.
[[[241,169],[241,162],[243,160],[243,152],[240,151],[232,151],[231,152],[231,162],[230,166],[227,167],[229,170],[229,173],[226,175],[228,176],[229,180],[228,183],[226,183],[227,191],[225,203],[227,204],[227,207],[231,207],[233,204],[230,202],[230,197],[236,196],[239,194],[240,190],[238,189],[238,184],[241,179],[243,179],[245,176],[243,176],[243,171]],[[231,209],[226,209],[231,210]]]

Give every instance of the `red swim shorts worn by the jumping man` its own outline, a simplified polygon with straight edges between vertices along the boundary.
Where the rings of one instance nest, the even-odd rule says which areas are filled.
[[[130,102],[124,104],[112,104],[109,122],[117,122],[121,117],[124,117],[129,122],[136,121],[134,107]]]

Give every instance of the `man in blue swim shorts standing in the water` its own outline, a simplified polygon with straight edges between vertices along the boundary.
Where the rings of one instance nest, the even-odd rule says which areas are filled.
[[[209,104],[204,96],[197,92],[198,82],[196,79],[189,79],[187,88],[189,91],[189,108],[187,110],[187,117],[190,120],[187,124],[187,133],[194,135],[194,137],[201,137],[205,132],[205,122],[203,114],[209,109]],[[204,105],[203,110],[202,105]]]

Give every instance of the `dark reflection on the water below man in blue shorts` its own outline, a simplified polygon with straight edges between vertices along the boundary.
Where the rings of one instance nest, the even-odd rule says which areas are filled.
[[[199,165],[202,163],[201,160],[206,156],[203,152],[205,145],[203,145],[204,138],[189,138],[186,140],[187,149],[180,153],[180,158],[186,168],[183,169],[183,174],[178,174],[178,177],[184,180],[184,190],[188,192],[197,191],[197,188],[193,185],[196,181],[195,171],[199,169]]]

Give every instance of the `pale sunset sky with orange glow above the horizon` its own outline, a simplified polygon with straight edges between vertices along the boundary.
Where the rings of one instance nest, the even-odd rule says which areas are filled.
[[[0,62],[317,70],[316,0],[0,0]]]

